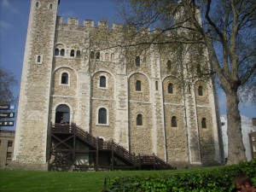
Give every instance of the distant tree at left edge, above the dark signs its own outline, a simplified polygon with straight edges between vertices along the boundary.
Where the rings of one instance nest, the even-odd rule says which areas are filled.
[[[17,80],[13,73],[0,69],[0,104],[15,102],[13,92],[14,86],[17,85]]]

